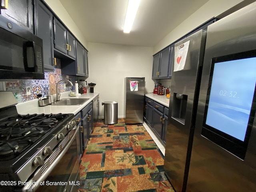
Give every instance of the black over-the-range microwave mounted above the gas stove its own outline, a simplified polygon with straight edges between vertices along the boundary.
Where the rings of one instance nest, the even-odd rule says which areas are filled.
[[[2,15],[0,79],[44,79],[42,39]]]

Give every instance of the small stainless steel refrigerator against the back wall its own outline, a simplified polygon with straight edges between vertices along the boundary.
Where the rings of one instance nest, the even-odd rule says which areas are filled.
[[[145,78],[124,78],[124,115],[126,124],[143,123]]]

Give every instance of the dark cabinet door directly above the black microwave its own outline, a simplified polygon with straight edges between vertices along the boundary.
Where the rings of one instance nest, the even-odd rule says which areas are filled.
[[[1,9],[1,15],[33,33],[32,0],[8,0],[8,9]]]

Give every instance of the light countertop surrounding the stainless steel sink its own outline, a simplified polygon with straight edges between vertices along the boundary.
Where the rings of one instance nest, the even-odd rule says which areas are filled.
[[[47,105],[44,107],[40,107],[38,105],[38,100],[34,99],[32,101],[20,103],[16,105],[18,114],[58,114],[58,113],[73,113],[76,115],[80,110],[82,110],[86,105],[88,105],[94,98],[96,98],[99,93],[84,93],[78,96],[70,97],[69,92],[64,92],[60,95],[60,99],[63,98],[89,98],[82,105]]]

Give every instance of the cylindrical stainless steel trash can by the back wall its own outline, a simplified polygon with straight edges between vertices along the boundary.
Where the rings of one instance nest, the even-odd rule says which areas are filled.
[[[116,124],[118,102],[105,101],[102,105],[104,105],[104,124]]]

